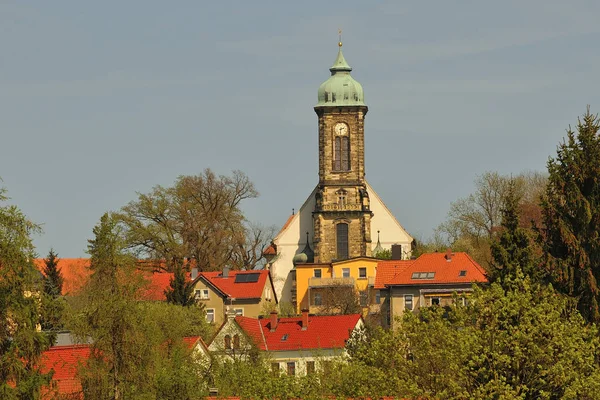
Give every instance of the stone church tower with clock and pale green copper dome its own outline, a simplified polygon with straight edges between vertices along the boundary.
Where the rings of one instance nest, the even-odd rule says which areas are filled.
[[[319,185],[314,222],[315,262],[371,256],[371,217],[365,183],[364,120],[360,83],[342,54],[319,87]]]

